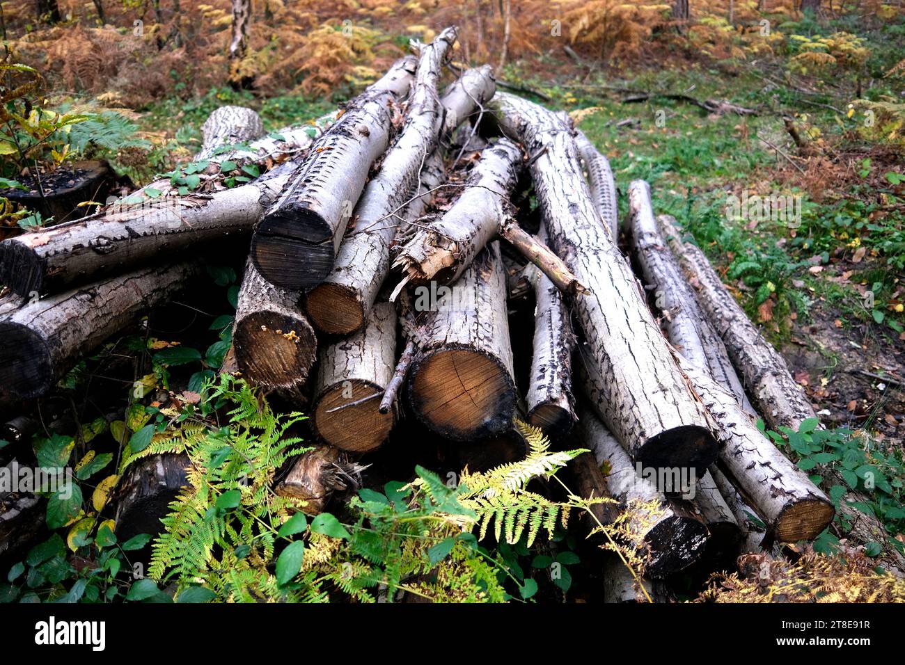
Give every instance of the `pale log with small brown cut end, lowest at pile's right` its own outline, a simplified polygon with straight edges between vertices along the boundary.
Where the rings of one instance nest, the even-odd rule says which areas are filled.
[[[811,540],[833,521],[833,504],[805,472],[757,429],[735,396],[706,371],[680,359],[682,371],[717,424],[719,464],[763,518],[776,540]]]

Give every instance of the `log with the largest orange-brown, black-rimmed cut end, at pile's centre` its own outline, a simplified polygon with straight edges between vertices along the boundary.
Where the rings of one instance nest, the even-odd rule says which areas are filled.
[[[499,242],[475,257],[432,311],[418,309],[420,354],[408,390],[418,419],[453,441],[509,430],[516,389]]]

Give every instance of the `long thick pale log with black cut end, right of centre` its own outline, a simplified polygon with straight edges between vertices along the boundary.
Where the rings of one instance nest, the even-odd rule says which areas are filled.
[[[575,310],[600,379],[595,408],[644,466],[703,470],[716,457],[716,442],[591,203],[568,128],[532,102],[498,97],[500,128],[533,156],[531,176],[551,246],[591,290],[576,299]]]

